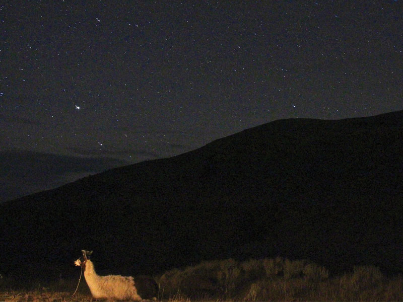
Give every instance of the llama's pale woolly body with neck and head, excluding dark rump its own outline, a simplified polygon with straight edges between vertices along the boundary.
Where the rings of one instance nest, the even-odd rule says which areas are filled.
[[[99,276],[95,272],[94,264],[87,255],[91,252],[82,250],[84,261],[77,259],[75,264],[84,270],[84,277],[94,298],[140,301],[133,277],[120,275]]]

